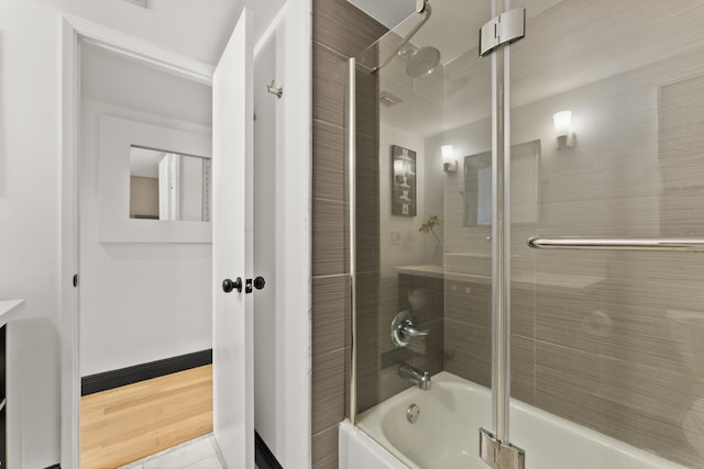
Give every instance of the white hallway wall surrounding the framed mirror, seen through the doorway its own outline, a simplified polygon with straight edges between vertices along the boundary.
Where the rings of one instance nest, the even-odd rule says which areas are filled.
[[[99,238],[100,115],[208,136],[210,87],[89,44],[81,70],[81,376],[211,348],[210,244]]]

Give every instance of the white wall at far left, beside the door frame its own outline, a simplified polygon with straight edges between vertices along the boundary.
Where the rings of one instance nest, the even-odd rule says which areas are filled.
[[[9,325],[10,378],[23,388],[8,401],[13,468],[59,459],[57,20],[31,2],[0,2],[0,298],[25,299],[31,321]]]

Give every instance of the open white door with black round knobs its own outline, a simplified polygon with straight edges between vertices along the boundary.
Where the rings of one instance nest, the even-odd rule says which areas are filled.
[[[230,469],[254,468],[252,70],[245,9],[212,80],[213,431]]]

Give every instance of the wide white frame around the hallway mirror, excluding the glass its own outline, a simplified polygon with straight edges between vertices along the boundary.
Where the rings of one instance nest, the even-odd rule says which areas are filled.
[[[130,219],[130,148],[133,145],[202,158],[212,156],[210,135],[101,115],[100,242],[211,243],[211,222]]]

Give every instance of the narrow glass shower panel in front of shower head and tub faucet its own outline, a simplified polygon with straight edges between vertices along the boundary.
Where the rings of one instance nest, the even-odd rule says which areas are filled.
[[[442,392],[443,376],[491,387],[492,72],[477,49],[491,2],[427,8],[358,57],[350,75],[350,416],[410,467],[475,467],[479,426],[426,428],[432,413],[422,401],[409,403],[420,412],[413,427],[405,414],[404,428],[378,416],[399,400],[406,412],[409,392]],[[398,340],[392,332],[407,320],[418,334]],[[461,415],[452,415],[460,426]],[[491,400],[481,420],[491,426]]]

